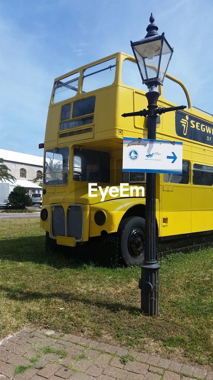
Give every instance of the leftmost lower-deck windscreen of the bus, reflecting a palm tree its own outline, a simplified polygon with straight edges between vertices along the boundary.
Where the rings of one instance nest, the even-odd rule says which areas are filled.
[[[69,171],[69,148],[55,148],[45,152],[45,185],[66,185]]]

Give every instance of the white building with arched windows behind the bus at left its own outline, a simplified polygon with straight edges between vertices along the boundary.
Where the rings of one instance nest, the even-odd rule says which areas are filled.
[[[0,149],[0,158],[3,158],[3,162],[11,170],[9,173],[16,177],[16,184],[26,187],[30,196],[33,193],[42,193],[42,187],[31,181],[42,178],[43,157]]]

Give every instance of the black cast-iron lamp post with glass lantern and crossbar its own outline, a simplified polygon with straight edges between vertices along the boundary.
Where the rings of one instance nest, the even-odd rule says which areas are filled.
[[[158,27],[154,24],[154,17],[151,13],[150,24],[147,26],[147,35],[143,40],[132,42],[131,46],[135,55],[139,72],[143,83],[149,88],[146,93],[148,100],[148,110],[143,109],[138,112],[130,112],[122,116],[147,116],[148,139],[156,139],[156,119],[157,114],[162,114],[176,109],[186,108],[185,106],[157,108],[157,101],[160,93],[157,86],[163,84],[166,71],[173,53],[172,47],[166,41],[164,33],[158,35]],[[156,260],[156,174],[147,173],[146,176],[146,213],[145,213],[145,249],[144,261],[141,265],[141,279],[139,288],[141,289],[141,310],[145,315],[158,315],[158,271],[160,265]]]

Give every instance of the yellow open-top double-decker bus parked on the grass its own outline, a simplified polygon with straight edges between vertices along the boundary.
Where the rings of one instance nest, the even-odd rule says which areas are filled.
[[[144,254],[146,173],[122,172],[123,137],[147,138],[147,107],[135,59],[116,53],[56,78],[44,141],[41,226],[46,247],[100,242],[105,255],[138,263]],[[157,139],[183,142],[182,174],[157,174],[157,250],[213,241],[213,117],[193,108],[186,87],[166,75],[158,105],[187,104],[157,118]],[[143,185],[145,196],[89,196],[88,184]],[[108,243],[107,243],[108,242]]]

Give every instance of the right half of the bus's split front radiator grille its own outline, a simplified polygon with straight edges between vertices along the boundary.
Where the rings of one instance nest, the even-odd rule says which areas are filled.
[[[67,210],[67,235],[81,241],[83,238],[83,207],[69,206]]]

